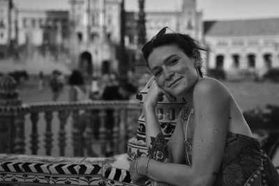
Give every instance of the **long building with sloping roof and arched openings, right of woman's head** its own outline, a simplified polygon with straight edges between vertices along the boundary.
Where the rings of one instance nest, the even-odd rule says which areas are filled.
[[[204,22],[209,69],[261,76],[279,67],[279,18]]]

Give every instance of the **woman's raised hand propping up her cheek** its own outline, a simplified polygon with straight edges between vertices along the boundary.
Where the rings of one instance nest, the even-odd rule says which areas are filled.
[[[158,102],[163,100],[163,95],[167,97],[169,102],[175,102],[176,100],[172,95],[167,93],[167,91],[165,91],[163,88],[160,88],[154,78],[148,82],[147,88],[149,88],[149,91],[144,100],[145,107],[156,107]]]

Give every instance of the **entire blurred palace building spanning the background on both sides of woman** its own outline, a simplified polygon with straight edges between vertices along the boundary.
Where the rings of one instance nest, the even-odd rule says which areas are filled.
[[[131,68],[139,50],[138,13],[126,12],[125,19]],[[203,56],[206,69],[262,75],[279,66],[279,18],[204,22],[196,1],[183,0],[181,10],[146,12],[144,19],[146,40],[169,26],[209,48]],[[35,53],[98,77],[119,72],[120,43],[120,0],[70,0],[67,10],[30,10],[0,0],[0,59],[9,52],[23,57]]]

